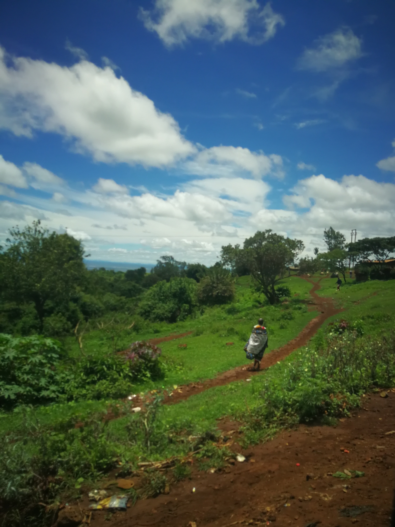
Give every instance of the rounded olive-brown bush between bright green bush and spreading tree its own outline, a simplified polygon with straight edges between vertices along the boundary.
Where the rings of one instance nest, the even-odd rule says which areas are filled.
[[[234,279],[228,271],[214,266],[197,286],[197,298],[201,304],[226,304],[234,298]]]

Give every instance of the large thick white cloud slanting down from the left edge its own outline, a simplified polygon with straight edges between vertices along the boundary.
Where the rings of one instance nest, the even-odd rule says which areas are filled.
[[[1,47],[0,128],[27,137],[34,130],[55,132],[106,163],[164,167],[195,150],[171,115],[111,67],[6,57]]]

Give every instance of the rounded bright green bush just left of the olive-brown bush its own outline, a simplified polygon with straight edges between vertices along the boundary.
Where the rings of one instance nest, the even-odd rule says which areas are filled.
[[[139,306],[140,315],[151,321],[185,320],[196,306],[196,282],[191,278],[161,281],[145,295]]]

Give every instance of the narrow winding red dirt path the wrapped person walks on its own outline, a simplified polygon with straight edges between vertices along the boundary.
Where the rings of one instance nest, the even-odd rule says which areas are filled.
[[[327,318],[332,315],[336,315],[342,311],[342,309],[336,309],[333,305],[332,298],[319,297],[315,291],[321,288],[319,279],[318,282],[310,280],[307,277],[301,276],[303,280],[307,280],[313,287],[310,289],[310,295],[314,300],[314,305],[321,313],[310,320],[309,324],[305,326],[297,337],[290,340],[289,343],[285,344],[279,349],[273,349],[272,352],[263,356],[261,361],[261,372],[270,366],[273,366],[276,362],[283,360],[288,357],[295,349],[300,348],[308,343],[311,337],[317,332],[320,326],[324,323]],[[174,336],[172,338],[175,338]],[[242,350],[240,350],[242,353]],[[179,386],[170,396],[167,396],[164,400],[164,404],[175,404],[180,401],[185,401],[191,395],[196,395],[204,392],[206,389],[213,388],[214,386],[223,386],[234,382],[235,380],[242,380],[250,378],[252,375],[259,375],[260,372],[250,372],[247,366],[238,366],[237,368],[230,369],[227,372],[223,372],[214,379],[204,380],[199,383],[190,383],[184,386]]]

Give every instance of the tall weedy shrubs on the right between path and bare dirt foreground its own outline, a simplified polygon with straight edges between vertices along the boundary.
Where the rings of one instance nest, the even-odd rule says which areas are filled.
[[[238,417],[244,419],[248,440],[259,440],[271,426],[349,415],[372,385],[394,382],[393,331],[379,339],[358,338],[357,331],[332,332],[318,349],[302,349],[274,367],[260,383],[261,402]]]

